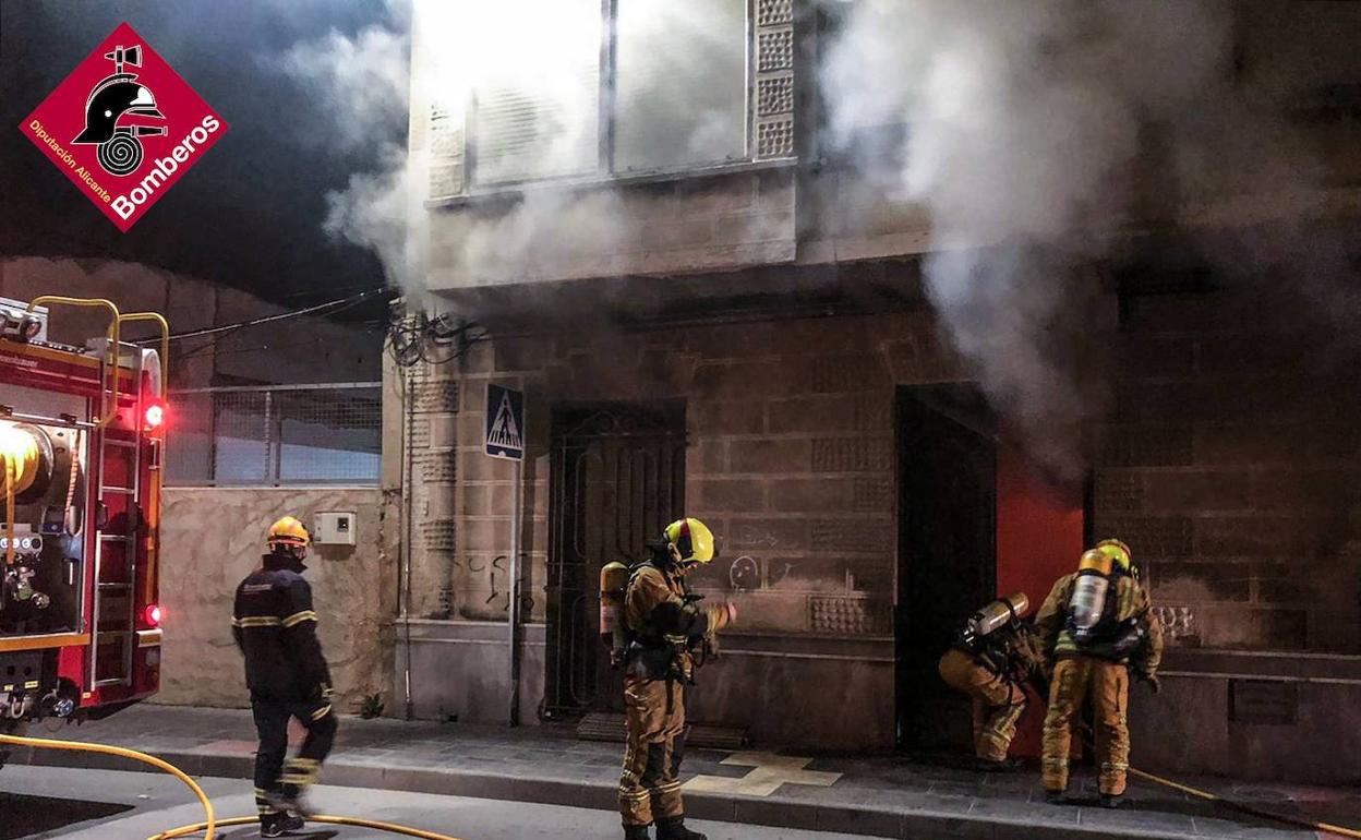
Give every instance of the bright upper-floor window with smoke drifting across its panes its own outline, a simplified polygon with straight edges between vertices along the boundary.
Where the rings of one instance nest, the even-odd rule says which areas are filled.
[[[426,39],[456,69],[433,78],[438,99],[467,106],[474,184],[750,159],[747,0],[457,7],[444,23],[465,37]]]

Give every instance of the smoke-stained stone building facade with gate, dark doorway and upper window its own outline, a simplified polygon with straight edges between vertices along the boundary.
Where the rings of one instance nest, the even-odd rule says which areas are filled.
[[[415,18],[427,280],[467,328],[385,374],[410,713],[619,711],[599,569],[687,513],[720,546],[695,588],[740,611],[695,720],[766,745],[946,749],[968,712],[934,668],[958,622],[999,594],[1037,604],[1119,535],[1172,637],[1166,690],[1131,711],[1135,758],[1338,772],[1307,746],[1354,742],[1361,719],[1357,347],[1327,306],[1221,278],[1146,219],[1082,267],[1079,327],[1057,331],[1085,340],[1068,355],[1092,410],[1037,434],[930,294],[930,214],[821,140],[840,4],[497,7],[460,19],[497,45],[461,61],[437,48],[448,20]],[[1354,229],[1361,174],[1343,99],[1301,117],[1330,242]],[[1263,204],[1191,215],[1237,229]],[[485,453],[489,384],[525,395],[523,467]]]

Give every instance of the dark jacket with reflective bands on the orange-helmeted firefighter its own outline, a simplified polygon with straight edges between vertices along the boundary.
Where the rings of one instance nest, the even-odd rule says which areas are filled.
[[[312,587],[289,569],[256,569],[237,587],[231,634],[246,659],[246,685],[257,700],[320,701],[331,670],[317,640]]]

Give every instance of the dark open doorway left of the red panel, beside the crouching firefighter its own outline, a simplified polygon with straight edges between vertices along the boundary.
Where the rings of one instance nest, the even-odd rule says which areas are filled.
[[[900,388],[898,746],[969,750],[966,698],[936,663],[996,592],[996,419],[972,384]]]

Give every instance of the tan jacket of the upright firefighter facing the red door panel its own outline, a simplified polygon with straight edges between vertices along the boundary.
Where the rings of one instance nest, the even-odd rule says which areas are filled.
[[[1128,664],[1135,673],[1150,677],[1162,663],[1162,625],[1150,609],[1149,595],[1134,577],[1121,575],[1106,592],[1105,615],[1098,625],[1097,644],[1079,645],[1067,628],[1068,603],[1077,573],[1064,575],[1055,581],[1049,596],[1034,617],[1034,626],[1044,649],[1053,660],[1072,656],[1092,656],[1117,664]],[[1141,624],[1143,641],[1132,652],[1123,652],[1109,645],[1132,625]],[[1052,664],[1052,663],[1051,663]]]

